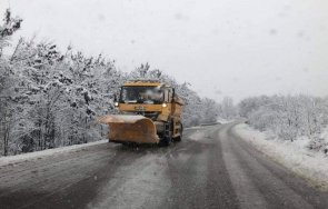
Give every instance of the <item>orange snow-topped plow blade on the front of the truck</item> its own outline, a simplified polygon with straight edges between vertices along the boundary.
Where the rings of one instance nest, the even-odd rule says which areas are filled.
[[[99,122],[109,126],[108,139],[112,142],[158,143],[156,126],[143,116],[103,116]]]

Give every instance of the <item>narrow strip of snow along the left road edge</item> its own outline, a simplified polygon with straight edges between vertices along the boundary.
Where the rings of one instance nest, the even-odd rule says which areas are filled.
[[[73,146],[54,148],[54,149],[47,149],[47,150],[42,150],[42,151],[21,153],[21,155],[17,155],[17,156],[0,157],[0,166],[13,163],[13,162],[19,162],[19,161],[24,161],[24,160],[32,160],[36,158],[41,158],[41,157],[47,157],[47,156],[52,156],[52,155],[64,153],[64,152],[69,152],[72,150],[79,150],[79,149],[82,149],[86,147],[107,143],[107,142],[108,142],[108,140],[103,139],[103,140],[99,140],[99,141],[89,142],[89,143],[73,145]]]

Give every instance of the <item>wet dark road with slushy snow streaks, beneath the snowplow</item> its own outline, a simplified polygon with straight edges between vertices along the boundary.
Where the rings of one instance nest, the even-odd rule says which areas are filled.
[[[168,148],[101,143],[0,167],[0,208],[328,208],[328,193],[255,150],[236,123]]]

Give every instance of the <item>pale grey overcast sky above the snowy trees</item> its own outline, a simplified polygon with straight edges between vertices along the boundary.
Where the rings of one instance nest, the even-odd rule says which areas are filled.
[[[141,62],[188,81],[201,96],[328,90],[327,0],[0,0],[38,36]]]

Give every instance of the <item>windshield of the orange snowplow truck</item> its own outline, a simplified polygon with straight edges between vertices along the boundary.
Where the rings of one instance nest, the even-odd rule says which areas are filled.
[[[120,102],[123,103],[161,103],[163,92],[159,87],[122,87]]]

